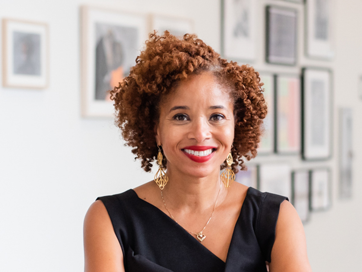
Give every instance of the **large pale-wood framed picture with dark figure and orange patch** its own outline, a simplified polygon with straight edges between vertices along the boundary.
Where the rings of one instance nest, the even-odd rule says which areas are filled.
[[[145,16],[81,8],[82,115],[113,116],[109,90],[129,74],[147,39]]]

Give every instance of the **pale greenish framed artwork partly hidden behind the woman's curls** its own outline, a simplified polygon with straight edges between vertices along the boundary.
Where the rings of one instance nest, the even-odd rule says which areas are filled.
[[[268,114],[263,120],[264,133],[259,143],[259,154],[270,154],[274,152],[274,76],[261,73],[261,82],[264,83],[264,99],[268,106]]]

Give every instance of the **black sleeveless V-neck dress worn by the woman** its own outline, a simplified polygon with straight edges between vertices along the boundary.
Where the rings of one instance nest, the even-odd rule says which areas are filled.
[[[134,190],[97,199],[110,216],[126,272],[265,272],[287,198],[249,187],[226,263]]]

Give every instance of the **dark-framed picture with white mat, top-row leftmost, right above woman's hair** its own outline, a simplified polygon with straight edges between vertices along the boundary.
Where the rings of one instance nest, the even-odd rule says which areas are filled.
[[[222,0],[221,50],[229,60],[256,58],[256,8],[254,0]]]

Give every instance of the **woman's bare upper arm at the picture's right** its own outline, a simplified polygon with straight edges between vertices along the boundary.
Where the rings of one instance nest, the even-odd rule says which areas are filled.
[[[298,213],[287,200],[280,205],[271,250],[270,272],[311,272],[307,256],[306,236]]]

